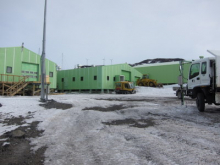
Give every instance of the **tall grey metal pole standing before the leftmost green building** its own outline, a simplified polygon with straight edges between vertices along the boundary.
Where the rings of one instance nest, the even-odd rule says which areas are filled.
[[[46,9],[47,9],[47,0],[45,0],[44,6],[44,26],[43,26],[43,48],[42,48],[42,55],[41,55],[41,101],[45,102],[45,41],[46,41]]]

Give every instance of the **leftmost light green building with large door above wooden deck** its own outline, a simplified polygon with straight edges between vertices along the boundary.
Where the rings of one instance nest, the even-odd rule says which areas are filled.
[[[18,82],[26,76],[26,82],[40,82],[41,56],[24,47],[0,48],[0,82]],[[57,65],[45,59],[46,81],[50,89],[57,86]]]

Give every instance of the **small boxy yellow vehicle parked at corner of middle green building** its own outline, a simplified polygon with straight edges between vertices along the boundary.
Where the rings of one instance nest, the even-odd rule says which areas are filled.
[[[133,94],[136,93],[133,82],[119,81],[115,83],[116,94]]]

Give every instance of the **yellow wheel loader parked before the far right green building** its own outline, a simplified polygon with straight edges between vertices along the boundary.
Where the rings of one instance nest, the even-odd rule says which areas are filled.
[[[150,79],[147,74],[144,74],[141,79],[137,79],[136,84],[138,86],[163,87],[163,84],[157,83],[157,80]]]

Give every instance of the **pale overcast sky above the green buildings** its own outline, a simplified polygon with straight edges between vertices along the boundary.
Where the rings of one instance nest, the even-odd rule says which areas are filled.
[[[0,47],[24,42],[42,53],[44,2],[0,0]],[[211,56],[207,49],[220,50],[219,7],[220,0],[48,0],[46,58],[72,69]]]

